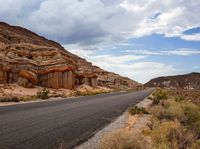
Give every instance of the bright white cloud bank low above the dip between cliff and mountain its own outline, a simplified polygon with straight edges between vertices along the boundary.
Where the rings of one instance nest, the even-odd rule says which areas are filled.
[[[70,52],[86,58],[88,61],[107,71],[130,77],[141,83],[145,83],[155,77],[177,73],[177,70],[172,65],[158,62],[145,62],[146,56],[96,55],[94,51],[85,51],[81,49],[70,50]],[[138,60],[140,61],[138,62]]]

